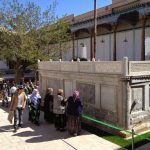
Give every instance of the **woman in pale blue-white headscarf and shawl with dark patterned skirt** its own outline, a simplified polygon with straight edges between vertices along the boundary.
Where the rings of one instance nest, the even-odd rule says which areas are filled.
[[[39,126],[41,96],[37,89],[34,89],[30,96],[30,121]]]

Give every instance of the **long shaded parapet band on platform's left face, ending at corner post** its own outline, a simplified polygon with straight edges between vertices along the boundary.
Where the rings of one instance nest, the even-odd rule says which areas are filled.
[[[89,72],[89,73],[112,73],[122,74],[121,61],[95,61],[95,62],[40,62],[39,70]]]

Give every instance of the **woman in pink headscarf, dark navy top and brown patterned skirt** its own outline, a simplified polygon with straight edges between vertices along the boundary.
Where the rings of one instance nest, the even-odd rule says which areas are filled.
[[[70,135],[80,134],[82,107],[79,91],[74,91],[67,100],[68,132]]]

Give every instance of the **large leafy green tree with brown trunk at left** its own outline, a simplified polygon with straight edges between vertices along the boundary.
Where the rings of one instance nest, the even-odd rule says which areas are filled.
[[[69,26],[56,17],[56,1],[44,12],[33,2],[0,2],[0,57],[14,64],[15,80],[20,82],[26,67],[60,54],[50,45],[69,40]]]

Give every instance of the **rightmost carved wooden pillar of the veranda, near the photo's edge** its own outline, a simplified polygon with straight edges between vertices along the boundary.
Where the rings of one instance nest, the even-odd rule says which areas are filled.
[[[142,34],[141,34],[141,60],[145,60],[145,23],[146,18],[142,16],[141,18],[142,23]]]

